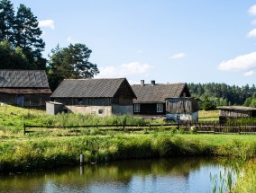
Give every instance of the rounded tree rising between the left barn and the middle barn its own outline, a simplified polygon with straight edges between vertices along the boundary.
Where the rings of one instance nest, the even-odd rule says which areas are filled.
[[[88,61],[92,50],[85,44],[69,44],[68,48],[51,50],[49,61],[50,88],[55,90],[64,78],[92,78],[99,73],[96,64]]]

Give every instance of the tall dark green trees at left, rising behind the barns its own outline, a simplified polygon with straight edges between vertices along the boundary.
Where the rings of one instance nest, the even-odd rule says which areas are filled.
[[[88,78],[99,73],[88,61],[91,49],[85,44],[52,48],[49,58],[42,56],[45,42],[37,17],[20,4],[16,12],[10,0],[0,1],[0,69],[46,70],[54,91],[64,78]]]

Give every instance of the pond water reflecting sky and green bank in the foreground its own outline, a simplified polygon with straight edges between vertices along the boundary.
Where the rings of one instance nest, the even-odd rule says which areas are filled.
[[[90,164],[0,176],[0,192],[212,192],[229,167],[213,159],[175,158]]]

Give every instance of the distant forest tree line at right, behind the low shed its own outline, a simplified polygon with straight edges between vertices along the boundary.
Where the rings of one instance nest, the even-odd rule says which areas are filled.
[[[187,83],[192,96],[200,100],[202,110],[215,110],[217,106],[242,105],[256,107],[256,87],[226,83]]]

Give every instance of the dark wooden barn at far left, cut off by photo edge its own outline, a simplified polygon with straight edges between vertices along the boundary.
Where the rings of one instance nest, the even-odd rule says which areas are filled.
[[[44,106],[50,88],[43,70],[0,70],[0,102],[17,106]]]

